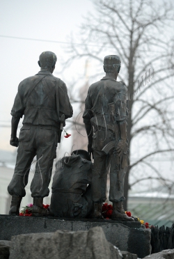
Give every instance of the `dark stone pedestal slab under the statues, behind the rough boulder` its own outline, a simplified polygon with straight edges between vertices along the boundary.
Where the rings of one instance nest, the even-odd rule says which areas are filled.
[[[139,258],[150,254],[150,229],[141,228],[139,222],[0,215],[0,240],[10,240],[11,236],[27,233],[89,230],[95,226],[102,227],[106,240],[120,251],[136,253]]]

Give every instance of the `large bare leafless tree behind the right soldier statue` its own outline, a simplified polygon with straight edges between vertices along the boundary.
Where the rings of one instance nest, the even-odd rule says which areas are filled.
[[[70,59],[65,65],[77,58],[92,58],[101,72],[104,56],[118,54],[122,60],[119,77],[125,81],[129,93],[127,136],[131,157],[137,157],[135,162],[131,161],[125,178],[127,201],[131,187],[129,174],[138,166],[150,168],[157,175],[154,178],[166,184],[149,158],[172,155],[174,150],[173,11],[170,2],[159,5],[149,0],[99,0],[93,3],[95,13],[89,13],[81,25],[81,44],[75,44],[72,38],[68,49]],[[138,141],[141,155],[137,152]],[[132,185],[139,181],[137,176]]]

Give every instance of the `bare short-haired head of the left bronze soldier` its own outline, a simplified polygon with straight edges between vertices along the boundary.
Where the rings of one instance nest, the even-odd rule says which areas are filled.
[[[54,52],[42,52],[39,56],[38,64],[40,68],[53,68],[56,61],[57,57]]]

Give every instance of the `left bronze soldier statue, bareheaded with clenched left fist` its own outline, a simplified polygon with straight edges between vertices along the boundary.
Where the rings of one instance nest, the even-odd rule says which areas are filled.
[[[31,182],[33,216],[47,215],[42,201],[49,195],[52,166],[56,158],[58,133],[62,118],[72,117],[72,106],[65,83],[53,76],[56,54],[42,52],[38,65],[40,72],[24,79],[18,87],[11,111],[11,146],[18,146],[13,179],[8,185],[12,196],[9,214],[19,214],[22,197],[29,178],[31,163],[36,155],[35,173]],[[17,127],[24,115],[23,127],[17,139]],[[60,139],[60,137],[59,137]]]

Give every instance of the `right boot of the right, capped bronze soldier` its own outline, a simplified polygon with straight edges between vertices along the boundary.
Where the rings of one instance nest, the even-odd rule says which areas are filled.
[[[116,221],[134,221],[132,217],[128,217],[123,209],[123,202],[118,201],[113,203],[113,212],[111,219]]]

